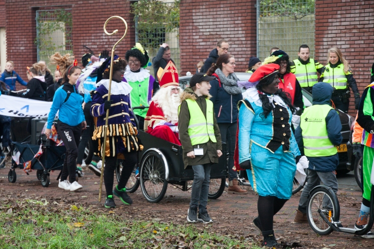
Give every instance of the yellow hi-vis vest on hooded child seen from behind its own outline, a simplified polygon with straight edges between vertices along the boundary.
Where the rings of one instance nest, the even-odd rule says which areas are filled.
[[[326,117],[331,110],[329,105],[314,105],[304,110],[300,117],[304,154],[306,156],[331,156],[338,153],[330,141],[326,127]]]

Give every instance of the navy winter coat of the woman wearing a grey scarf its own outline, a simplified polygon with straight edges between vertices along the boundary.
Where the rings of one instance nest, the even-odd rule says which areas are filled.
[[[210,81],[210,85],[209,94],[212,96],[210,100],[213,102],[217,123],[236,123],[238,118],[237,104],[243,99],[241,93],[228,94],[217,79]]]

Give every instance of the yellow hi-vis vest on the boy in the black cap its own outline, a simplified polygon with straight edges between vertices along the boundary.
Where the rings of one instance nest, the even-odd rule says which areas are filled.
[[[188,135],[191,139],[191,144],[202,144],[209,141],[217,142],[214,135],[213,127],[213,103],[206,100],[206,119],[196,101],[187,99],[187,106],[189,111]],[[178,114],[180,108],[178,109]]]

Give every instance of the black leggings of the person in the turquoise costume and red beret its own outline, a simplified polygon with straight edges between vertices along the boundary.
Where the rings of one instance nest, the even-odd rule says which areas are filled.
[[[286,199],[275,196],[258,196],[257,210],[262,231],[273,230],[273,216],[281,210]]]

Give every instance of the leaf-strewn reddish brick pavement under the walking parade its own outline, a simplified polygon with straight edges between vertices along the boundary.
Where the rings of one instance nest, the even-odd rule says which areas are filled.
[[[9,183],[7,168],[0,170],[0,196],[2,198],[29,198],[42,199],[50,203],[56,201],[59,206],[69,207],[71,204],[77,206],[91,206],[92,210],[103,210],[103,200],[98,202],[99,177],[95,176],[88,168],[83,169],[85,176],[79,179],[83,190],[78,192],[67,192],[58,188],[55,180],[59,171],[51,173],[51,184],[48,188],[41,186],[36,178],[36,172],[26,175],[21,169],[16,169],[17,180]],[[340,190],[338,198],[341,205],[341,221],[344,226],[353,227],[357,220],[361,191],[355,182],[353,174],[339,177]],[[208,210],[214,223],[209,226],[196,224],[198,229],[214,231],[222,235],[239,235],[244,238],[253,239],[255,242],[262,240],[259,232],[254,228],[252,220],[257,216],[257,196],[247,187],[247,195],[232,195],[226,192],[217,200],[210,200]],[[105,193],[105,191],[103,191]],[[141,189],[131,194],[134,204],[122,205],[116,199],[117,209],[124,219],[156,220],[160,222],[173,222],[175,224],[186,224],[186,214],[189,203],[190,192],[168,186],[168,191],[160,203],[149,203],[145,200]],[[292,196],[284,208],[274,219],[274,230],[280,241],[294,243],[296,248],[374,248],[374,240],[362,239],[350,234],[333,232],[328,236],[317,236],[308,224],[295,224],[293,222],[298,206],[300,193]],[[104,198],[103,198],[104,199]],[[104,211],[106,212],[106,211]]]

